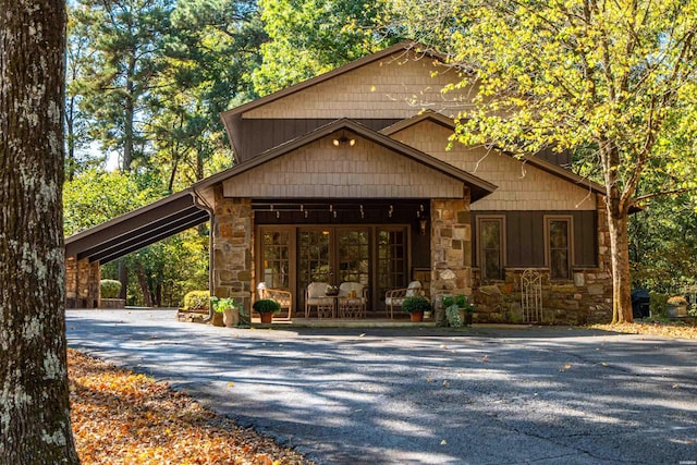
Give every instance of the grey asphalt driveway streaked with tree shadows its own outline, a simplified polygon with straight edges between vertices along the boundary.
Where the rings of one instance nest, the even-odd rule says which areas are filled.
[[[697,342],[567,328],[227,329],[69,310],[71,347],[320,464],[697,464]]]

